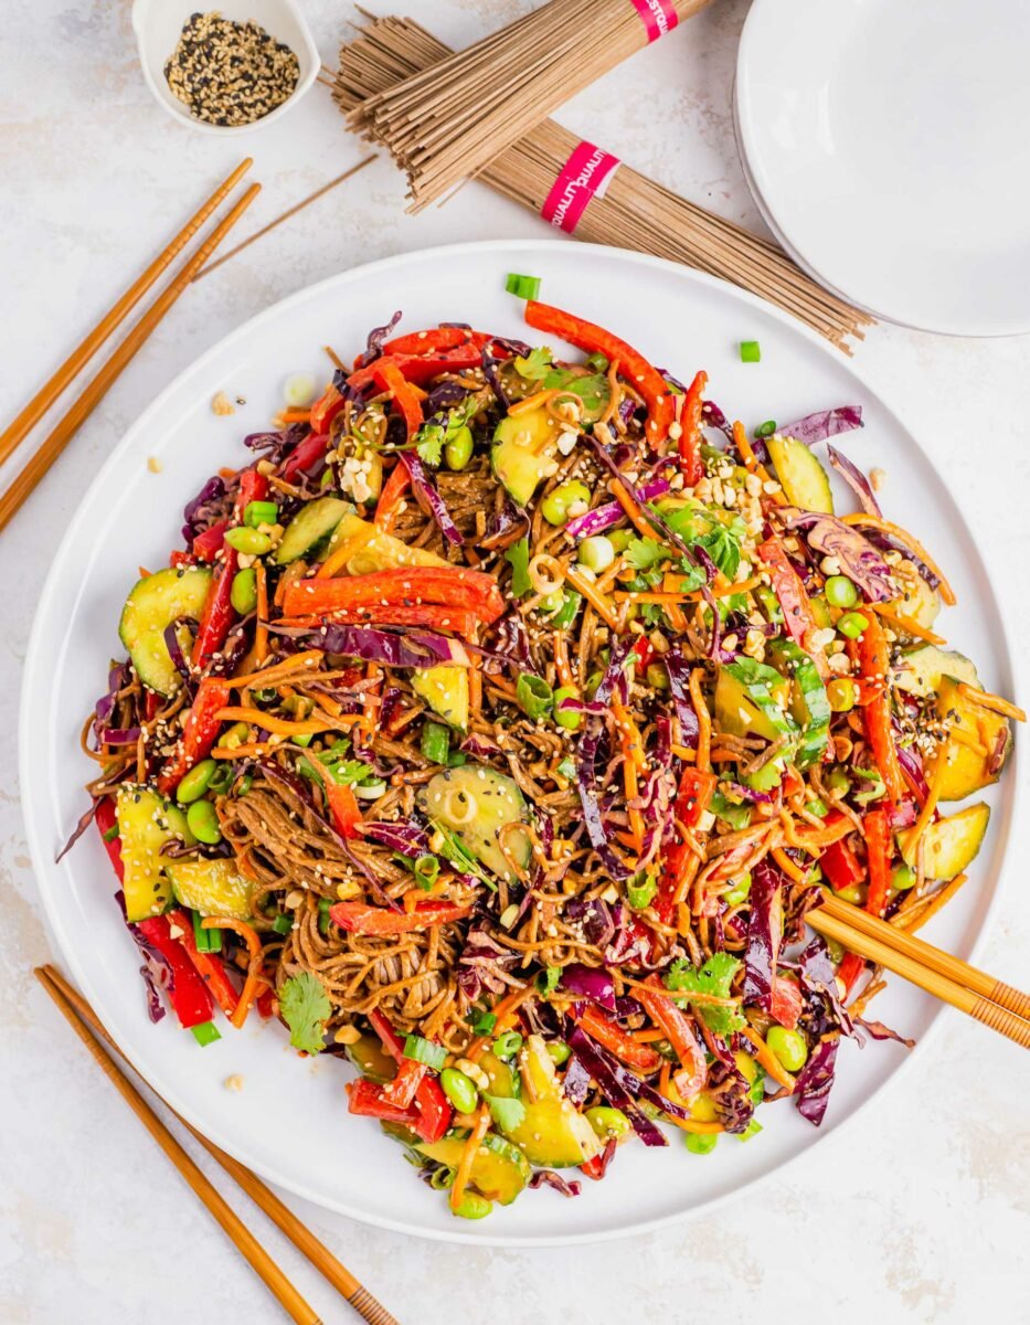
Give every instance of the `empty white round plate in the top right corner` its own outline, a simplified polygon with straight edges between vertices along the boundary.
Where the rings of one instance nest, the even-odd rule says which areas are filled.
[[[741,154],[785,246],[876,317],[1030,330],[1030,7],[755,0]]]

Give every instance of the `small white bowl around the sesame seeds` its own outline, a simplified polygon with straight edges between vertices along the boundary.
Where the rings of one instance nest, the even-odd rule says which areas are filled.
[[[301,74],[286,101],[249,125],[209,125],[191,115],[185,103],[168,86],[164,65],[175,50],[189,16],[208,12],[204,0],[134,0],[132,29],[147,86],[154,93],[155,101],[173,119],[189,125],[191,129],[199,129],[203,134],[245,134],[261,125],[270,125],[303,97],[315,81],[322,64],[301,11],[294,0],[212,0],[211,7],[234,23],[253,20],[294,52],[301,65]]]

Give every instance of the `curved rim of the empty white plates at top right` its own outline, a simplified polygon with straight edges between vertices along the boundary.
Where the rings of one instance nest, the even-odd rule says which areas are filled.
[[[1022,318],[1013,318],[1011,321],[1002,322],[997,318],[984,318],[982,315],[973,317],[969,321],[949,319],[945,322],[937,322],[935,318],[912,319],[912,315],[899,317],[895,313],[886,313],[882,309],[875,307],[866,299],[861,298],[857,293],[849,292],[846,285],[841,285],[835,277],[823,276],[808,258],[798,244],[792,238],[789,231],[784,227],[781,217],[776,215],[772,201],[768,197],[768,189],[763,186],[763,176],[768,178],[761,167],[756,167],[755,162],[761,160],[760,154],[756,152],[755,132],[752,129],[752,122],[755,117],[752,115],[751,101],[748,97],[747,83],[747,65],[749,58],[752,58],[752,48],[759,46],[760,34],[757,32],[759,24],[765,21],[767,13],[772,11],[776,0],[751,0],[751,8],[748,9],[747,17],[744,19],[744,26],[740,30],[740,44],[737,46],[737,57],[733,65],[733,90],[731,94],[732,99],[732,119],[733,119],[733,136],[736,139],[737,151],[740,154],[740,160],[744,167],[744,182],[748,186],[751,195],[755,199],[755,204],[763,216],[763,220],[773,232],[774,237],[788,250],[789,257],[797,262],[814,281],[819,285],[826,286],[834,294],[853,303],[857,309],[863,313],[868,313],[880,322],[890,322],[892,326],[906,327],[910,331],[923,331],[929,335],[943,335],[951,339],[977,339],[977,341],[998,341],[1006,337],[1027,335],[1030,334],[1030,301],[1027,301],[1026,313]],[[778,0],[782,5],[782,0]],[[794,0],[797,3],[797,0]],[[805,0],[801,0],[805,3]],[[782,13],[780,13],[782,19]],[[753,53],[753,58],[759,58],[759,53]]]

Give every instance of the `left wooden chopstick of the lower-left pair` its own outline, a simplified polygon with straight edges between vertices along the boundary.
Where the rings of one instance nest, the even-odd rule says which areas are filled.
[[[36,978],[61,1010],[68,1020],[68,1024],[86,1045],[114,1088],[135,1113],[147,1132],[150,1132],[183,1178],[185,1178],[197,1196],[200,1196],[213,1218],[233,1240],[241,1255],[246,1257],[254,1273],[258,1275],[262,1283],[279,1300],[290,1318],[297,1321],[297,1325],[322,1325],[320,1317],[314,1308],[304,1301],[257,1238],[254,1238],[242,1219],[240,1219],[232,1206],[225,1200],[217,1187],[208,1182],[200,1169],[193,1163],[185,1150],[183,1150],[171,1132],[160,1121],[158,1114],[154,1113],[139,1090],[136,1090],[132,1083],[115,1065],[114,1060],[101,1048],[97,1039],[94,1039],[94,1036],[86,1030],[85,1023],[78,1019],[74,1008],[46,971],[37,967]]]

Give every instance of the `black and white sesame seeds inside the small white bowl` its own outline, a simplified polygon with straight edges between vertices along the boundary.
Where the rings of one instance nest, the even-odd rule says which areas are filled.
[[[294,52],[253,21],[234,23],[217,11],[191,15],[164,65],[168,86],[208,125],[253,125],[297,87]]]

